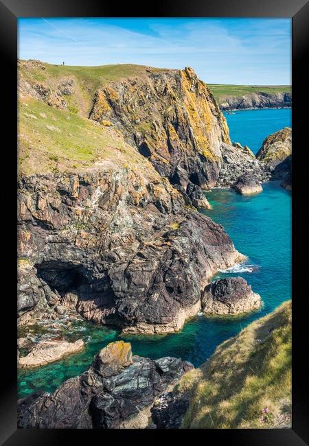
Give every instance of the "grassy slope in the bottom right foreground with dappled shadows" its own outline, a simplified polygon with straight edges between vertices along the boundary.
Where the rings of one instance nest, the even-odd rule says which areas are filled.
[[[190,392],[186,428],[291,425],[291,301],[220,344],[179,384]]]

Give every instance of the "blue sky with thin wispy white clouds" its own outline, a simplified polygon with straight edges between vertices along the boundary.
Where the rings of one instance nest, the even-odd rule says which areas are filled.
[[[192,67],[211,84],[291,83],[290,19],[19,19],[19,58]]]

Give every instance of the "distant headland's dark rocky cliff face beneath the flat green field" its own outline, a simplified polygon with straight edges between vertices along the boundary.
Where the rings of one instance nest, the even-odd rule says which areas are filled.
[[[239,110],[248,108],[290,108],[291,93],[248,93],[242,96],[225,96],[218,99],[221,110]]]

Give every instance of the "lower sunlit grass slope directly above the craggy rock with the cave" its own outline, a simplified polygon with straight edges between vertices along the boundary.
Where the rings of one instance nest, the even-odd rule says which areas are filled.
[[[80,172],[98,163],[152,172],[114,128],[27,97],[18,106],[19,175]]]

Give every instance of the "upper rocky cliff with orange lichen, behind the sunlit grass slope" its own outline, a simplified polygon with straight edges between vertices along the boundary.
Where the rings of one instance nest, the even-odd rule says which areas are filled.
[[[128,77],[119,75],[108,82],[103,78],[102,85],[95,82],[96,89],[92,78],[87,79],[90,86],[85,92],[87,82],[84,79],[81,82],[76,71],[71,71],[69,77],[56,77],[52,71],[47,77],[46,71],[51,71],[47,64],[38,61],[20,61],[20,64],[22,95],[31,95],[58,109],[85,114],[83,103],[87,101],[83,96],[89,96],[90,91],[92,104],[87,117],[122,132],[126,141],[175,185],[187,204],[208,207],[201,187],[207,189],[216,183],[222,161],[220,145],[230,143],[230,139],[225,117],[214,96],[193,69],[137,66],[129,71],[132,75]],[[84,69],[87,73],[87,67]],[[36,82],[42,77],[45,82]]]

